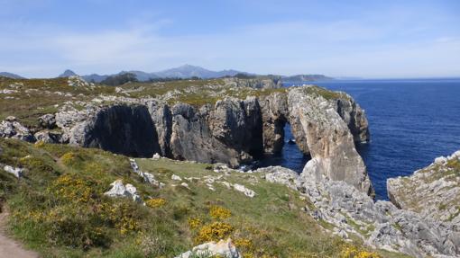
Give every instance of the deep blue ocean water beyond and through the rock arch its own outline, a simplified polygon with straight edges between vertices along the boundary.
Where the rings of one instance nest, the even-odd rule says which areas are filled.
[[[388,178],[409,175],[435,157],[460,149],[460,79],[336,80],[315,85],[345,91],[365,110],[371,142],[357,149],[377,199],[388,199]],[[285,130],[286,139],[291,138],[290,128]],[[280,156],[262,163],[301,172],[307,161],[295,145],[286,144]]]

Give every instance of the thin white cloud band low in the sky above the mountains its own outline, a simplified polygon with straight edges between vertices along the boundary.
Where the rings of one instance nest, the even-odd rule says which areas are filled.
[[[168,30],[170,22],[135,21],[124,30],[91,32],[55,25],[9,27],[14,34],[0,40],[0,70],[55,76],[65,68],[82,74],[115,73],[189,63],[277,74],[460,75],[460,40],[455,35],[431,41],[396,39],[390,44],[388,39],[400,33],[395,24],[274,22],[213,34],[165,36],[161,31]]]

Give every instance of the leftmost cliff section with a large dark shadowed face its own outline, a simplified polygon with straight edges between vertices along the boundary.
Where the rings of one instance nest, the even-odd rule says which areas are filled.
[[[64,111],[56,118],[70,144],[99,147],[127,156],[152,157],[161,151],[152,116],[144,105],[116,104]]]

